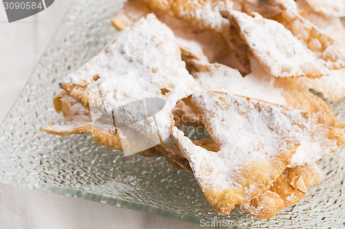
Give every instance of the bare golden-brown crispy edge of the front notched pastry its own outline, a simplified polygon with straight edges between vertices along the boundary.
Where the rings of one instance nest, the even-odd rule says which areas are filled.
[[[217,91],[216,93],[221,94],[223,92]],[[197,105],[191,102],[191,96],[184,101],[197,113],[203,113],[203,111],[201,111],[201,109],[197,107]],[[286,108],[284,107],[284,109]],[[304,120],[308,120],[310,114],[309,112],[304,112],[303,116]],[[303,122],[303,120],[300,121]],[[205,118],[201,118],[201,122],[203,122],[206,126],[206,129],[209,130],[207,120],[205,120]],[[300,127],[304,128],[302,127],[302,124],[300,125]],[[209,133],[211,136],[213,135],[212,131],[210,131]],[[190,162],[190,157],[188,157],[188,152],[183,146],[183,142],[181,142],[181,140],[179,139],[178,134],[175,134],[176,129],[172,129],[172,139],[175,141],[177,146],[179,146],[179,149],[184,153],[184,155],[186,155],[188,161]],[[286,150],[280,151],[279,155],[271,157],[270,161],[255,161],[244,166],[237,172],[237,177],[243,178],[238,178],[236,180],[236,182],[242,186],[241,188],[228,188],[226,190],[217,190],[217,188],[204,188],[201,184],[202,181],[198,181],[206,199],[208,199],[208,202],[213,206],[213,208],[215,208],[215,210],[217,210],[217,212],[220,212],[221,214],[229,215],[230,211],[235,208],[236,204],[243,204],[246,201],[253,199],[254,197],[262,195],[262,193],[264,193],[264,191],[266,191],[269,186],[273,184],[273,182],[275,182],[277,177],[279,177],[279,175],[284,171],[286,166],[290,164],[290,160],[300,144],[300,142],[296,142],[291,139],[285,139],[285,142],[286,145],[288,145],[288,148]],[[216,144],[219,145],[219,142],[216,141]],[[193,169],[193,162],[190,163],[192,164],[191,167]],[[263,174],[265,173],[265,171],[270,171],[270,174],[266,173],[266,176],[264,176]],[[245,190],[249,189],[250,185],[253,184],[257,184],[256,190],[250,194],[245,193]]]

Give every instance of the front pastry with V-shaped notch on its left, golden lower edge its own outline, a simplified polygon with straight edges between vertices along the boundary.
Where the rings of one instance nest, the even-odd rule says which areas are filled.
[[[172,139],[189,161],[208,202],[228,215],[262,194],[290,164],[307,129],[308,111],[279,107],[221,91],[186,99],[219,151],[193,144],[176,127]]]

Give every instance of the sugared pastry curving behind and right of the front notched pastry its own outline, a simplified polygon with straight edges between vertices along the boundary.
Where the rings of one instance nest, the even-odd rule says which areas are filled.
[[[292,189],[290,180],[297,178],[293,178],[295,173],[290,171],[300,171],[302,177],[307,176],[308,180],[312,181],[305,182],[306,188],[321,181],[321,173],[314,169],[314,164],[323,155],[337,151],[342,144],[345,144],[345,125],[333,116],[326,102],[311,94],[308,89],[292,79],[270,76],[255,58],[250,59],[252,73],[245,77],[240,76],[235,69],[219,64],[199,66],[197,68],[200,72],[194,72],[193,75],[204,89],[225,87],[233,94],[250,96],[311,112],[310,127],[288,168],[273,183],[268,192],[244,206],[242,204],[237,206],[255,217],[268,218],[273,217],[282,208],[295,204],[306,193],[306,191],[303,193]],[[288,183],[284,184],[282,180]],[[272,190],[274,187],[280,188]]]

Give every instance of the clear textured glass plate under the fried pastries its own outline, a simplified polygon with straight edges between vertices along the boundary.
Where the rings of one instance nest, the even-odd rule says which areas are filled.
[[[60,138],[41,133],[46,122],[63,122],[52,107],[59,80],[97,54],[116,31],[110,19],[121,1],[75,1],[20,98],[0,129],[0,181],[61,195],[199,223],[242,221],[250,228],[344,226],[345,151],[319,163],[325,180],[275,218],[257,220],[233,210],[219,215],[193,175],[164,158],[141,157],[97,146],[90,135]],[[345,101],[332,105],[345,121]],[[318,223],[318,224],[316,224]],[[220,225],[220,224],[218,224]]]

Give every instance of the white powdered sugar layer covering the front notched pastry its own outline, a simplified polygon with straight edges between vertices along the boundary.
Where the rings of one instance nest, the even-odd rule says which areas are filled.
[[[255,160],[270,161],[270,157],[288,149],[291,142],[287,143],[286,139],[298,144],[306,131],[307,123],[301,111],[255,99],[206,91],[193,95],[192,103],[202,109],[208,132],[220,144],[217,153],[207,151],[175,130],[175,138],[184,147],[185,156],[203,188],[236,188],[234,175],[239,168]]]

